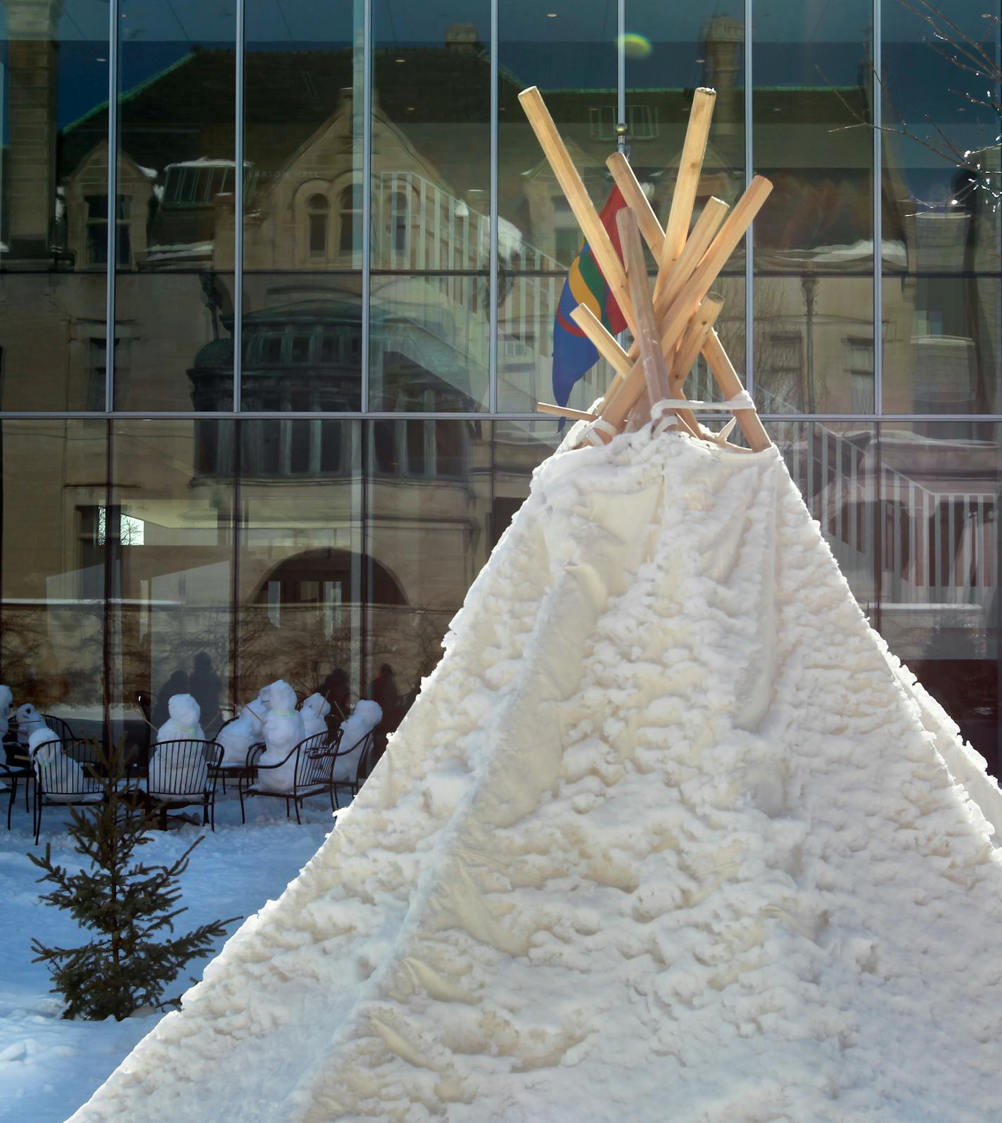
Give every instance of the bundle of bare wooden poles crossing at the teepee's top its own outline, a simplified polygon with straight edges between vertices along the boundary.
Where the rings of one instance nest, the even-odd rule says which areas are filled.
[[[772,183],[756,175],[734,208],[711,198],[695,223],[692,222],[716,97],[713,90],[707,89],[696,90],[693,95],[664,228],[626,156],[616,152],[605,162],[627,204],[617,216],[620,259],[539,90],[530,86],[519,94],[557,183],[634,337],[629,350],[623,350],[598,317],[579,304],[571,313],[575,323],[610,363],[616,376],[594,412],[546,402],[540,402],[538,409],[591,422],[591,432],[604,444],[631,422],[636,427],[646,420],[655,407],[667,408],[677,419],[678,428],[692,436],[729,444],[727,436],[734,421],[720,432],[710,432],[700,426],[694,413],[703,403],[685,398],[685,381],[700,354],[723,400],[741,402],[743,408],[734,411],[735,419],[752,451],[760,451],[771,444],[758,414],[748,408],[741,380],[713,327],[723,301],[710,289],[772,191]],[[657,262],[653,292],[641,237]],[[674,405],[676,401],[678,405]],[[665,402],[672,404],[665,407]]]

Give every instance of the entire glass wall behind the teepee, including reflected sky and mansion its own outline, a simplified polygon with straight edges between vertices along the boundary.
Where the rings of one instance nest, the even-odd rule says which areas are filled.
[[[580,236],[517,93],[596,202],[622,121],[664,216],[710,84],[700,198],[775,182],[720,330],[860,603],[994,761],[999,218],[860,124],[892,119],[875,61],[974,147],[965,76],[890,0],[753,0],[750,42],[737,0],[546,7],[2,0],[0,677],[112,722],[179,676],[220,710],[385,661],[415,688],[558,439],[534,405]]]

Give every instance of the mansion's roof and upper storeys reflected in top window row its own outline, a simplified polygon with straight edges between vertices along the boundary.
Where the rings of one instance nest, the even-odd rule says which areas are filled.
[[[39,144],[39,98],[57,97],[57,6],[34,13],[11,43],[3,175],[3,404],[103,404],[102,327],[109,222],[117,231],[116,405],[231,407],[233,267],[237,181],[245,199],[244,384],[249,410],[361,405],[363,194],[372,200],[370,407],[484,410],[489,402],[491,230],[485,166],[457,165],[465,136],[486,130],[486,53],[468,25],[438,48],[377,51],[372,179],[361,176],[361,104],[353,52],[246,54],[247,159],[234,162],[233,51],[195,47],[121,97],[117,195],[108,199],[107,108]],[[704,28],[719,89],[701,197],[737,197],[744,177],[740,27]],[[15,51],[17,48],[17,51]],[[415,67],[420,64],[416,81]],[[709,80],[709,79],[708,79]],[[227,85],[229,83],[229,86]],[[548,396],[552,321],[579,234],[502,73],[499,150],[499,390],[505,411]],[[221,91],[219,98],[211,91]],[[456,106],[455,91],[464,91]],[[228,91],[228,92],[227,92]],[[548,93],[572,154],[599,201],[614,146],[601,92]],[[774,200],[756,225],[756,372],[768,412],[873,410],[873,235],[863,88],[767,90],[756,95],[756,166]],[[682,89],[637,91],[628,106],[631,159],[655,210],[665,209],[687,112]],[[42,115],[44,116],[44,113]],[[832,130],[801,127],[831,122]],[[800,137],[802,134],[802,137]],[[803,143],[799,143],[802,139]],[[890,141],[889,141],[890,143]],[[471,143],[471,150],[473,149]],[[999,408],[998,220],[980,201],[920,202],[882,177],[884,408],[964,412]],[[740,354],[744,291],[722,281],[721,331]],[[43,273],[44,276],[36,274]],[[579,390],[599,392],[598,369]]]

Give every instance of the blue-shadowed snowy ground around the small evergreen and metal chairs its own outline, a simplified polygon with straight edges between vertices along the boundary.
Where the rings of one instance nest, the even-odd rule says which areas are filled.
[[[20,793],[18,793],[20,795]],[[0,795],[3,818],[7,796]],[[247,916],[277,897],[286,883],[312,857],[330,830],[330,809],[322,800],[308,801],[302,825],[285,821],[277,800],[248,803],[248,822],[240,825],[240,807],[230,792],[219,795],[216,833],[192,855],[182,878],[188,912],[179,930],[222,916]],[[62,865],[76,859],[65,824],[69,812],[47,809],[38,852],[52,842]],[[44,964],[31,962],[30,941],[73,946],[78,929],[69,914],[38,901],[39,870],[26,853],[34,848],[31,816],[25,805],[15,809],[12,830],[0,821],[0,1119],[20,1123],[62,1123],[84,1103],[133,1046],[161,1015],[125,1022],[67,1022],[60,1017],[60,999],[49,993]],[[184,827],[143,850],[146,861],[170,861],[182,852],[200,828]],[[237,924],[230,925],[235,931]],[[208,959],[191,965],[171,994],[186,989],[191,976],[201,977]]]

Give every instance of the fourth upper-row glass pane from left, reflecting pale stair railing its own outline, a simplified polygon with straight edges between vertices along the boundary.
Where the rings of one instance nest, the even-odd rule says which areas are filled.
[[[486,0],[373,4],[374,409],[488,404],[489,30]]]

